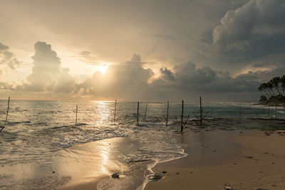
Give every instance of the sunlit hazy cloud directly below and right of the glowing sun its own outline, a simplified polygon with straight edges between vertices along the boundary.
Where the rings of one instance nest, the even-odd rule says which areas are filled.
[[[78,93],[97,97],[117,97],[135,100],[149,93],[147,81],[152,77],[150,69],[142,67],[140,55],[134,54],[129,61],[110,65],[104,75],[95,72],[92,78],[78,84]]]

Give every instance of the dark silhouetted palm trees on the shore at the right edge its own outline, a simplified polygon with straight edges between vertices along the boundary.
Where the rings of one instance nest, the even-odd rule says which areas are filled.
[[[259,103],[263,105],[285,103],[285,75],[261,83],[257,90],[262,94]]]

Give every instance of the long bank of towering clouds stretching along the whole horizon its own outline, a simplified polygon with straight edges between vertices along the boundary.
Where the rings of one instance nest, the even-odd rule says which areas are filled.
[[[215,93],[234,99],[240,93],[258,96],[257,86],[261,81],[285,72],[285,66],[279,66],[232,77],[228,72],[214,70],[209,66],[199,67],[190,61],[175,65],[171,69],[160,68],[160,77],[149,83],[154,73],[150,68],[144,68],[145,62],[135,53],[124,63],[110,65],[104,74],[95,72],[83,83],[78,83],[76,78],[69,74],[68,68],[61,67],[61,59],[52,50],[51,45],[37,42],[34,48],[33,68],[26,78],[27,83],[0,83],[1,90],[94,99],[103,97],[123,100],[176,100],[200,93],[208,98]],[[234,96],[231,96],[232,94]]]

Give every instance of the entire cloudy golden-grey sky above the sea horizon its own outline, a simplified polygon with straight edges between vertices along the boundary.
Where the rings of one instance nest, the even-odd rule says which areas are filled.
[[[258,101],[284,0],[0,0],[0,99]]]

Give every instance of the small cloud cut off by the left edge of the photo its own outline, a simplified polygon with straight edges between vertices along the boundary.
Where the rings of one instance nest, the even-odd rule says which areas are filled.
[[[14,53],[9,51],[9,46],[0,43],[0,65],[7,65],[11,69],[19,67],[20,61],[14,56]]]

